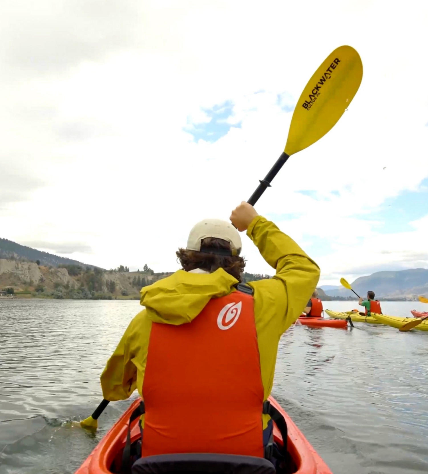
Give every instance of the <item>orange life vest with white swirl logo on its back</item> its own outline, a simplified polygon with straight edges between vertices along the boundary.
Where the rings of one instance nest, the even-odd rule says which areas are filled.
[[[254,299],[213,298],[190,323],[152,323],[142,456],[264,456]]]

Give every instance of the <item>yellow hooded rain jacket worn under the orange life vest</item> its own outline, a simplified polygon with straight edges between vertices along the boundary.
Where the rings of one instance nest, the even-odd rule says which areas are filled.
[[[247,235],[266,262],[276,269],[271,279],[249,282],[254,288],[254,315],[259,344],[261,377],[267,400],[272,390],[279,338],[300,316],[320,276],[318,265],[273,222],[256,217]],[[222,268],[214,273],[178,270],[141,290],[145,310],[130,322],[101,374],[106,400],[142,395],[152,322],[186,324],[195,319],[211,298],[236,291],[238,281]],[[197,354],[195,354],[197,357]],[[185,370],[185,368],[183,368]],[[263,429],[268,415],[263,415]],[[143,422],[143,417],[142,417]]]

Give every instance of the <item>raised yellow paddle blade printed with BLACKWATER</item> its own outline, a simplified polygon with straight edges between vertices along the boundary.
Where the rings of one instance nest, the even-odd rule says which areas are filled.
[[[293,155],[323,137],[348,108],[363,78],[363,63],[351,46],[335,49],[313,74],[297,101],[285,153]]]

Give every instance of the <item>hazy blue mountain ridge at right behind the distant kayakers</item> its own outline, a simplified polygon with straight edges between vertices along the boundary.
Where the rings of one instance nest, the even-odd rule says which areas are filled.
[[[326,285],[327,286],[327,285]],[[412,298],[428,293],[428,270],[412,268],[410,270],[383,271],[360,276],[351,286],[360,296],[366,297],[373,291],[376,298]],[[328,296],[349,296],[352,294],[343,286],[325,290]]]

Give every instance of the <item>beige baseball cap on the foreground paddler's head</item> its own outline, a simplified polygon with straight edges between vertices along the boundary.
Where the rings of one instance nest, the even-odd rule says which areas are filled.
[[[187,239],[187,250],[201,252],[201,242],[206,237],[221,238],[229,242],[231,246],[230,253],[223,249],[210,253],[219,255],[239,255],[241,253],[241,237],[231,222],[220,219],[201,220],[190,231],[189,238]]]

